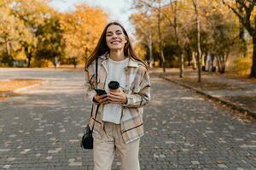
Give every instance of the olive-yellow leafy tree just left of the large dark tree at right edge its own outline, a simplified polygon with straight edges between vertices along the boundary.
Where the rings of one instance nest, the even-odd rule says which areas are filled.
[[[240,37],[236,34],[239,28],[237,28],[234,20],[230,20],[232,16],[233,14],[230,14],[229,10],[224,10],[221,7],[218,7],[214,13],[207,15],[208,53],[217,58],[220,73],[225,71],[231,50],[234,53],[240,52],[237,48]]]

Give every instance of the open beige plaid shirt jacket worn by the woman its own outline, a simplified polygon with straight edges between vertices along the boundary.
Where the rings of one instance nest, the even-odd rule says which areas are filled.
[[[88,68],[85,69],[85,94],[93,102],[96,95],[94,88],[106,86],[108,77],[108,54],[98,58],[98,82],[96,83],[96,61],[94,60]],[[127,103],[123,105],[121,116],[121,134],[126,144],[139,139],[143,136],[143,106],[148,104],[150,99],[150,81],[147,69],[143,64],[135,59],[129,59],[125,67],[125,94]],[[104,105],[99,105],[96,116],[96,106],[93,104],[92,116],[89,125],[94,125],[94,133],[103,132],[102,110]],[[95,118],[96,117],[96,118]],[[102,136],[102,135],[100,135]]]

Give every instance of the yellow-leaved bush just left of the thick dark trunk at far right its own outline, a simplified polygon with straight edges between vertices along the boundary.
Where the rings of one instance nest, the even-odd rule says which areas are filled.
[[[234,61],[233,70],[240,75],[249,75],[252,67],[252,58],[238,58]]]

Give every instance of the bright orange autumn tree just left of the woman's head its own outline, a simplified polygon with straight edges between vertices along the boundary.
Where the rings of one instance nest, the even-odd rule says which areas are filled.
[[[96,47],[107,19],[102,8],[92,8],[86,3],[78,4],[72,12],[61,14],[67,56],[79,60],[88,57]]]

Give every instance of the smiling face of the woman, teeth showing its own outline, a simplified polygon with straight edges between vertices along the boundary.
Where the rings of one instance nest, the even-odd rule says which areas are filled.
[[[110,50],[123,49],[127,42],[122,28],[117,25],[108,26],[106,41]]]

